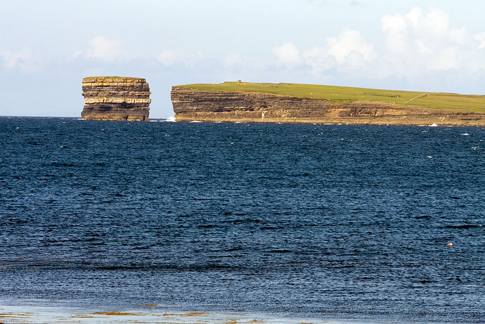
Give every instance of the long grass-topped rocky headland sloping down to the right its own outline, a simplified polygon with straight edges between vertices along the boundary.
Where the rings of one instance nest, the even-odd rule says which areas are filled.
[[[177,121],[485,126],[485,96],[329,85],[172,87]]]

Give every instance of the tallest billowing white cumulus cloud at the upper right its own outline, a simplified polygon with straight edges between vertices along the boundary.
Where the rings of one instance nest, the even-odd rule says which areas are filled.
[[[381,69],[382,76],[398,72],[410,78],[430,71],[473,72],[484,67],[485,34],[470,35],[465,28],[451,26],[448,14],[440,9],[423,13],[413,8],[406,15],[386,15],[381,23],[386,42],[381,60],[390,63]]]

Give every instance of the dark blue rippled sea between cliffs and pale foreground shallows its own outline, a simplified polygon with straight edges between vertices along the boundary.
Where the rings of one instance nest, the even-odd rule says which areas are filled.
[[[0,304],[484,323],[483,140],[2,117]]]

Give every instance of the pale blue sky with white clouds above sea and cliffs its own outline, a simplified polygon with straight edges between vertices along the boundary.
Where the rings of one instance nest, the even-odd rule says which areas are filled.
[[[478,0],[0,0],[0,116],[80,117],[87,76],[485,94]]]

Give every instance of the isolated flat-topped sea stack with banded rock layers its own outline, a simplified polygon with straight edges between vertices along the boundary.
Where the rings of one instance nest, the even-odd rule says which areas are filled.
[[[150,88],[145,79],[87,77],[82,79],[83,119],[148,120]]]

